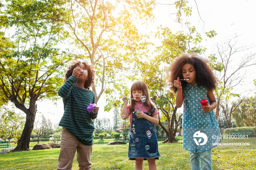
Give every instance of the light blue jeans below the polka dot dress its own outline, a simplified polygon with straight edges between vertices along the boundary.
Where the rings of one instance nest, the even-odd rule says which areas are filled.
[[[202,170],[212,170],[211,149],[203,152],[190,151],[191,170],[201,170],[200,160]]]

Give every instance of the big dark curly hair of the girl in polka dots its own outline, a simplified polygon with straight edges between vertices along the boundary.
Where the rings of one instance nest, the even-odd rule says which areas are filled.
[[[208,90],[214,90],[217,87],[217,81],[212,68],[208,65],[208,60],[200,57],[197,54],[183,54],[180,57],[177,57],[171,64],[170,67],[166,69],[168,82],[172,82],[180,79],[184,79],[182,76],[182,66],[184,64],[191,64],[195,67],[196,70],[196,83],[197,85],[205,86]],[[181,86],[184,88],[187,85],[186,81],[181,81]],[[174,93],[177,92],[177,88],[172,86],[170,88]]]

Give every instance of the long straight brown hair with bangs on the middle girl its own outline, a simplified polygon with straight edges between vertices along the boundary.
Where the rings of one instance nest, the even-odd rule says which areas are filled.
[[[135,81],[131,87],[130,98],[134,98],[132,96],[132,91],[134,91],[134,90],[142,90],[143,96],[146,96],[146,101],[144,102],[144,105],[146,107],[150,108],[150,110],[148,112],[151,112],[151,110],[153,108],[156,108],[155,104],[150,99],[146,83],[144,83],[143,81]],[[134,107],[135,107],[135,100],[131,100],[131,104],[129,105],[129,109],[131,112],[134,111]]]

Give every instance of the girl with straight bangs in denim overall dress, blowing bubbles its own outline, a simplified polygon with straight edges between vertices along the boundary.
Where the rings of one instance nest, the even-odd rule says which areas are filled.
[[[131,130],[129,132],[129,160],[135,160],[135,170],[143,169],[143,161],[148,161],[150,170],[156,170],[155,160],[161,155],[155,125],[158,124],[158,114],[155,104],[150,100],[147,85],[143,81],[136,81],[131,87],[130,103],[123,96],[124,106],[121,116],[129,117]]]

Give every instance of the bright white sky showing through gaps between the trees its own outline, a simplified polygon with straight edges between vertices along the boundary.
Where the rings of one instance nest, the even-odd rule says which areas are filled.
[[[159,0],[158,2],[167,4],[170,0]],[[252,20],[256,16],[255,0],[196,0],[196,3],[200,16],[204,21],[204,30],[207,32],[215,30],[218,33],[216,37],[211,40],[208,39],[203,45],[208,49],[206,52],[207,56],[212,53],[212,45],[215,45],[216,42],[221,43],[226,37],[233,38],[235,35],[238,35],[240,36],[239,40],[247,46],[255,43],[255,23]],[[197,31],[201,31],[203,22],[202,20],[200,21],[199,15],[197,14],[195,1],[191,1],[191,4],[193,5],[193,17],[189,19],[189,22],[191,22],[191,25],[196,26]],[[155,9],[155,23],[149,24],[147,29],[141,28],[139,30],[145,29],[145,32],[150,32],[156,30],[157,26],[163,25],[169,27],[173,33],[178,30],[186,31],[185,27],[182,28],[179,24],[173,22],[173,18],[176,18],[175,15],[170,15],[170,12],[174,13],[176,11],[172,10],[173,8],[174,5],[158,5]],[[255,49],[253,50],[256,51]],[[248,69],[250,69],[251,75],[255,75],[255,69]],[[250,78],[250,81],[252,80]],[[38,112],[47,113],[49,119],[52,119],[54,123],[59,123],[63,115],[62,100],[57,101],[57,107],[47,100],[38,102],[37,104]],[[113,113],[103,112],[104,105],[105,100],[104,96],[102,96],[98,101],[98,106],[100,107],[98,117],[109,117],[112,120]]]

